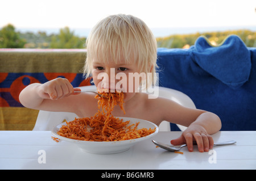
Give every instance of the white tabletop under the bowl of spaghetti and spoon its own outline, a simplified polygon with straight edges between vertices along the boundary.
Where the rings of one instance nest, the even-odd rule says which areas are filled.
[[[154,140],[169,144],[180,134],[159,132]],[[250,131],[218,132],[214,141],[237,144],[204,153],[185,147],[184,154],[156,148],[152,139],[123,153],[91,154],[51,136],[49,131],[0,131],[0,169],[256,169],[256,132]]]

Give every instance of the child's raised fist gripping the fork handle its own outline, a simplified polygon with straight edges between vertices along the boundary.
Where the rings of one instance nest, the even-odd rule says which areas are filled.
[[[56,78],[39,86],[38,95],[43,99],[57,100],[73,94],[74,89],[68,79]]]

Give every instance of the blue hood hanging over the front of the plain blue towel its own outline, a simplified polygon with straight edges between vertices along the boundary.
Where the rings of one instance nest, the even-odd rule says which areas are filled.
[[[231,35],[224,43],[214,47],[201,36],[191,50],[194,61],[202,69],[233,89],[248,81],[251,71],[250,51],[240,37]]]

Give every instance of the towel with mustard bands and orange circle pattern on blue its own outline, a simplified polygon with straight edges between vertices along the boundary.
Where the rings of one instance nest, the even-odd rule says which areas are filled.
[[[25,108],[19,93],[31,83],[67,78],[73,87],[90,85],[82,77],[85,50],[0,49],[0,130],[32,130],[38,110]]]

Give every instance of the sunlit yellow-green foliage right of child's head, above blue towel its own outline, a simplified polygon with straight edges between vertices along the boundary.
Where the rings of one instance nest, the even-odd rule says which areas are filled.
[[[189,35],[171,35],[157,38],[158,47],[164,48],[188,48],[195,44],[199,36],[205,36],[212,45],[221,44],[229,35],[237,35],[245,43],[246,47],[256,47],[256,32],[249,30],[205,32]]]

